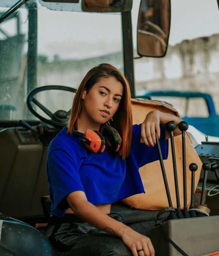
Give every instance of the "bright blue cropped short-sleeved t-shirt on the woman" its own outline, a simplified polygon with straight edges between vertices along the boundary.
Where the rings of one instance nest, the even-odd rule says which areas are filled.
[[[168,140],[161,128],[160,146],[164,159],[168,157]],[[81,133],[80,133],[81,134]],[[158,160],[156,147],[147,147],[141,140],[141,125],[132,126],[130,155],[122,160],[107,149],[96,154],[83,142],[67,133],[65,127],[51,141],[47,158],[47,181],[51,214],[62,218],[69,208],[65,197],[74,191],[84,191],[92,204],[114,203],[143,193],[139,167]]]

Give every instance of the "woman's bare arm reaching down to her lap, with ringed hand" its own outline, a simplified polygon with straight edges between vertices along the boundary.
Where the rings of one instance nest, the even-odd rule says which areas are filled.
[[[88,222],[97,229],[115,234],[122,238],[124,244],[130,248],[134,256],[154,256],[154,248],[148,237],[139,234],[127,225],[109,217],[95,205],[89,203],[83,191],[70,193],[66,196],[66,201],[74,214],[83,221]],[[137,252],[137,250],[140,249],[143,249],[143,251]]]

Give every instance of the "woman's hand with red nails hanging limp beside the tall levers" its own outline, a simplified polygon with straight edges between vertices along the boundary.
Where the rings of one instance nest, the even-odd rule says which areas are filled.
[[[157,138],[160,138],[160,112],[153,110],[149,112],[141,125],[141,143],[146,146],[154,147],[156,143],[155,130]]]

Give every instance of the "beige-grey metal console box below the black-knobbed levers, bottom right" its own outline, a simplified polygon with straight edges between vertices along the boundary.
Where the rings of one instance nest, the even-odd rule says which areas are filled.
[[[162,224],[165,234],[189,256],[219,251],[219,216],[173,219]],[[156,256],[182,255],[163,236],[160,226],[150,231]]]

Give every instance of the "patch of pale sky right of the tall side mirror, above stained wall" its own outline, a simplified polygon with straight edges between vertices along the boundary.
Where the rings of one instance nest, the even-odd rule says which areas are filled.
[[[217,0],[172,0],[169,44],[219,33]]]

